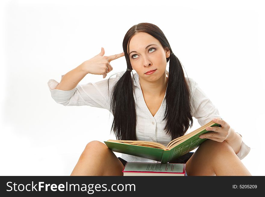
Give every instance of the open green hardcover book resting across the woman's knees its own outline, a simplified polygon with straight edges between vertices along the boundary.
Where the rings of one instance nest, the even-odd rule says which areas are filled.
[[[214,132],[206,130],[207,127],[213,126],[221,127],[221,125],[210,121],[195,131],[170,141],[167,146],[157,142],[138,140],[108,140],[104,141],[104,143],[113,152],[120,152],[152,159],[161,163],[167,163],[196,149],[201,143],[207,140],[206,138],[201,139],[199,136],[207,132]]]

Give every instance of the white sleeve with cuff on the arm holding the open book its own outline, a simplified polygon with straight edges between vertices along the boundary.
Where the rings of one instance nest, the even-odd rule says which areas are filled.
[[[192,116],[198,120],[198,123],[203,126],[207,122],[210,122],[213,118],[221,118],[218,109],[201,90],[198,84],[192,79],[189,79],[189,82],[190,87],[192,88],[191,92],[195,107],[195,109],[193,109]],[[241,160],[248,155],[250,149],[251,148],[242,141],[240,150],[236,155]]]

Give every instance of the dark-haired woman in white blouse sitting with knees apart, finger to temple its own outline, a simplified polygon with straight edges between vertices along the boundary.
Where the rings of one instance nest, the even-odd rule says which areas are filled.
[[[132,26],[123,39],[123,53],[95,57],[63,75],[49,80],[53,99],[64,106],[89,105],[108,109],[114,116],[111,130],[117,140],[155,141],[167,145],[192,127],[192,117],[204,125],[213,118],[222,127],[210,127],[208,138],[194,154],[181,158],[189,176],[251,175],[242,164],[250,148],[192,79],[185,78],[164,33],[151,23]],[[116,78],[77,85],[88,73],[106,77],[112,60],[125,56],[127,70]],[[170,60],[170,61],[169,61]],[[169,63],[169,72],[166,70]],[[134,69],[135,74],[131,72]],[[108,85],[107,85],[108,84]],[[108,86],[108,87],[107,87]],[[156,162],[122,154],[121,158],[99,141],[86,145],[71,175],[123,175],[126,162]],[[179,162],[179,160],[177,161]],[[103,169],[103,170],[102,170]]]

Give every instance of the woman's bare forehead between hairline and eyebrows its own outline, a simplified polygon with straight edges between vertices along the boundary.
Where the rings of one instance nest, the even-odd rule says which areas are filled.
[[[132,36],[129,42],[130,51],[144,50],[147,45],[156,44],[161,45],[160,42],[145,32],[139,32]]]

